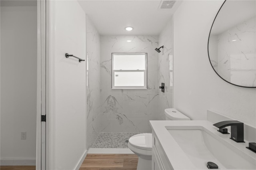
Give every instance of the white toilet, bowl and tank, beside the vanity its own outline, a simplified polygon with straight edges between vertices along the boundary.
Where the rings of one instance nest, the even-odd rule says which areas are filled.
[[[164,114],[166,120],[190,120],[189,117],[186,117],[185,115],[173,108],[165,109]],[[128,147],[139,157],[137,170],[151,170],[152,134],[141,133],[130,137]]]

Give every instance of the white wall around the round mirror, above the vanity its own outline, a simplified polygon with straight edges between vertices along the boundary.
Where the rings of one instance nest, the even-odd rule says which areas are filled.
[[[193,120],[212,109],[256,125],[256,89],[226,83],[212,69],[207,42],[223,1],[184,1],[174,13],[174,107]]]

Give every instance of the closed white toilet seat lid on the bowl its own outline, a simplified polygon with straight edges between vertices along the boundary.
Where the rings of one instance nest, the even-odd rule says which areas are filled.
[[[152,150],[152,133],[140,133],[129,138],[129,143],[135,148]]]

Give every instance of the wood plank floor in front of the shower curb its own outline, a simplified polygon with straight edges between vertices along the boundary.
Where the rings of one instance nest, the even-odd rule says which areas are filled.
[[[87,154],[79,170],[136,170],[136,154]]]

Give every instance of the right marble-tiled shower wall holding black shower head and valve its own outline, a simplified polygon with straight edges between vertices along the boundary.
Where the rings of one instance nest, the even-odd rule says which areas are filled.
[[[168,20],[159,36],[159,47],[164,45],[158,54],[158,84],[164,83],[165,92],[158,90],[159,120],[164,120],[164,109],[173,107],[173,21]]]

